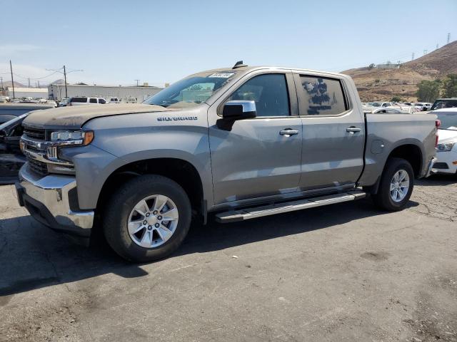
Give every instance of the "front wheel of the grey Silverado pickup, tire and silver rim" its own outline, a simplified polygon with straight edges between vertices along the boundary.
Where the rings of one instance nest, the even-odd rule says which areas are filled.
[[[162,206],[163,209],[154,210],[156,204],[165,201],[164,198],[166,204]],[[150,208],[149,212],[141,205],[143,202]],[[105,208],[102,225],[106,241],[117,254],[129,261],[163,259],[179,248],[191,225],[191,203],[186,192],[178,183],[159,175],[144,175],[129,180],[114,193]],[[136,208],[140,208],[138,212]],[[161,212],[164,212],[163,217],[160,216]],[[171,217],[166,221],[169,212],[174,212],[169,217],[176,215],[176,219]],[[159,218],[163,221],[159,221]],[[134,224],[142,228],[131,234],[136,227],[130,230],[129,227]]]

